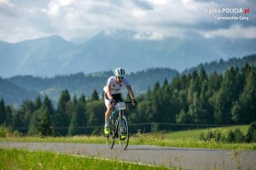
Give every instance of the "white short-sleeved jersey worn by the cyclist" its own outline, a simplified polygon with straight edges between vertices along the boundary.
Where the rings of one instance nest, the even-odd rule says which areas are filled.
[[[111,87],[111,94],[120,94],[121,88],[129,84],[130,82],[128,82],[128,80],[125,77],[123,78],[123,81],[120,83],[116,82],[115,77],[109,77],[107,82],[107,85],[110,85]],[[107,91],[106,86],[103,88],[103,90],[104,92]]]

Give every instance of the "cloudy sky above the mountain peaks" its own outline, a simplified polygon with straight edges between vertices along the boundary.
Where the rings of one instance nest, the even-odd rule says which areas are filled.
[[[240,9],[243,13],[236,13]],[[226,19],[232,16],[237,18]],[[205,38],[256,38],[256,1],[0,0],[0,40],[4,42],[52,35],[66,40],[90,38],[116,30],[134,31],[134,38],[142,40],[191,33]]]

